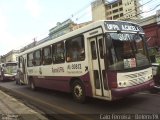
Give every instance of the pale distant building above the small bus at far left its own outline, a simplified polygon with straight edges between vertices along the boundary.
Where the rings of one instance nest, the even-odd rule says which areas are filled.
[[[19,54],[19,50],[12,50],[10,52],[8,52],[7,54],[1,56],[1,60],[0,62],[1,63],[4,63],[4,62],[15,62],[15,61],[18,61],[18,54]]]

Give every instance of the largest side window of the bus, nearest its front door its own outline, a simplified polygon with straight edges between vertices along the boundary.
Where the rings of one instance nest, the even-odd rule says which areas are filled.
[[[67,62],[83,61],[85,59],[84,38],[76,37],[66,41]]]

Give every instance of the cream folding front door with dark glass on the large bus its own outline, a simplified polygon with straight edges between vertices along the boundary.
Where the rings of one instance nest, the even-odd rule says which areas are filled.
[[[91,78],[95,95],[105,96],[109,99],[110,94],[108,91],[108,82],[104,62],[105,41],[103,35],[91,38],[89,42],[92,67]]]

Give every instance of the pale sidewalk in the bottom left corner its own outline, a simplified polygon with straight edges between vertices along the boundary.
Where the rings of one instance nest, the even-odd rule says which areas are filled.
[[[0,120],[48,120],[42,114],[0,90]]]

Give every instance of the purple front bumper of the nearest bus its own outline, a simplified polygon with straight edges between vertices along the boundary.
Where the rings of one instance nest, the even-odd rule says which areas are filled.
[[[134,94],[136,92],[150,90],[154,87],[154,85],[155,85],[154,81],[149,80],[145,83],[142,83],[136,86],[112,89],[111,90],[111,94],[113,96],[112,100],[121,99],[123,97]]]

